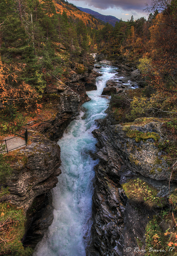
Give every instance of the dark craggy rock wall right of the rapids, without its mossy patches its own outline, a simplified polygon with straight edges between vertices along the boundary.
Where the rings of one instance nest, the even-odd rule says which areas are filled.
[[[127,131],[155,132],[161,141],[161,121],[147,118],[143,123],[135,120],[128,126],[114,125],[107,112],[107,118],[98,121],[100,128],[93,131],[98,139],[96,155],[100,160],[95,168],[93,195],[93,255],[135,256],[133,248],[140,247],[139,241],[141,250],[145,249],[145,228],[154,212],[127,200],[121,184],[140,177],[165,195],[170,172],[153,139],[136,142],[127,136]],[[176,178],[177,174],[173,180]],[[130,252],[126,251],[128,247],[132,248]]]

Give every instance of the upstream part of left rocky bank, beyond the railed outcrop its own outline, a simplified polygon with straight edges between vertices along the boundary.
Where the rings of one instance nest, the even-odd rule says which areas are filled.
[[[94,59],[90,57],[89,66],[86,68],[75,67],[71,70],[66,81],[58,81],[53,90],[46,94],[48,98],[54,98],[56,115],[47,120],[29,122],[28,128],[35,125],[36,130],[46,135],[50,140],[58,141],[62,137],[68,124],[78,116],[80,106],[90,100],[86,91],[96,90],[95,80],[99,73],[93,70]]]

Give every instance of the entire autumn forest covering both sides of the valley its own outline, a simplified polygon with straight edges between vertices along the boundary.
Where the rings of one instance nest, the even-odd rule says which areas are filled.
[[[55,7],[58,3],[65,4],[61,13]],[[154,0],[147,6],[147,20],[132,16],[115,27],[103,26],[90,15],[88,20],[74,18],[74,11],[67,16],[72,8],[65,1],[1,1],[0,106],[4,116],[13,120],[22,110],[40,111],[44,94],[58,79],[65,80],[73,63],[87,66],[86,56],[93,52],[137,63],[147,83],[148,99],[143,95],[135,99],[131,104],[140,108],[133,107],[131,115],[137,116],[137,111],[141,111],[139,115],[177,112],[175,0]],[[75,11],[79,10],[75,7]]]

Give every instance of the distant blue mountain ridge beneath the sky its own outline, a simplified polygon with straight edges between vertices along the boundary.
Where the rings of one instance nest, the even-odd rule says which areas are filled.
[[[99,19],[99,20],[102,20],[103,22],[109,22],[112,26],[115,26],[115,22],[119,22],[120,20],[117,19],[116,17],[114,16],[111,16],[111,15],[103,15],[103,14],[100,14],[99,12],[95,12],[95,11],[92,11],[91,9],[88,9],[88,8],[82,8],[82,7],[78,7],[78,9],[80,9],[82,12],[86,12],[88,14],[91,14],[93,15],[95,18]]]

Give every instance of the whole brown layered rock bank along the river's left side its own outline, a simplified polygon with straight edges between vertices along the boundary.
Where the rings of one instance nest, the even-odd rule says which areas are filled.
[[[56,143],[68,124],[78,116],[80,106],[89,100],[86,90],[94,90],[94,59],[88,68],[75,68],[66,81],[58,81],[48,98],[55,98],[55,115],[52,118],[31,121],[27,124],[28,145],[10,152],[6,158],[12,168],[12,175],[6,186],[10,194],[1,197],[23,208],[26,214],[24,246],[34,248],[52,224],[53,207],[51,189],[60,175],[60,146]],[[81,74],[80,74],[81,72]],[[79,73],[79,74],[78,74]]]

